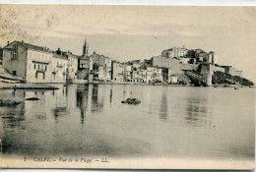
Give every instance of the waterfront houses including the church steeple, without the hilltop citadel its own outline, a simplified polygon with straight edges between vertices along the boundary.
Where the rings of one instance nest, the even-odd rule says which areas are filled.
[[[119,63],[96,51],[88,54],[85,41],[83,55],[58,48],[52,51],[24,41],[13,41],[3,48],[3,67],[28,83],[66,83],[112,81],[155,83],[168,82],[170,71],[142,63]],[[168,74],[169,73],[169,74]],[[164,76],[164,77],[163,77]]]

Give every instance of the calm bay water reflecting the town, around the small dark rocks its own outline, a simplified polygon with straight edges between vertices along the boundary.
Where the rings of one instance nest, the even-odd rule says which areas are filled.
[[[23,101],[0,108],[3,155],[254,157],[253,88],[59,87],[0,91]],[[128,97],[142,103],[122,104]]]

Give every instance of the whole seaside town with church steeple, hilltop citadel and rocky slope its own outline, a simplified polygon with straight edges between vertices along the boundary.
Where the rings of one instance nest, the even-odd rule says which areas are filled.
[[[150,59],[118,62],[97,54],[96,51],[89,54],[87,39],[81,48],[83,54],[75,55],[61,48],[50,50],[46,46],[33,45],[23,40],[7,42],[0,51],[0,82],[166,86],[254,85],[242,78],[242,71],[237,71],[232,66],[219,65],[219,56],[214,51],[187,49],[183,45],[162,50],[159,56]]]

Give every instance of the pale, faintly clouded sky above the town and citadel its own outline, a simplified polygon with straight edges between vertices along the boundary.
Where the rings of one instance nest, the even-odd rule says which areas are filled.
[[[185,45],[215,51],[220,65],[256,83],[256,7],[0,5],[0,46],[24,40],[124,62]]]

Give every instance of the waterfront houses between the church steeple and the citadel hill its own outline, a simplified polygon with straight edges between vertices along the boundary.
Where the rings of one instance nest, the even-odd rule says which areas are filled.
[[[120,63],[109,57],[99,55],[96,51],[87,57],[88,63],[93,64],[91,74],[84,76],[92,80],[113,83],[161,83],[171,82],[171,72],[168,68],[145,65],[144,62]],[[89,65],[88,65],[89,66]],[[79,71],[81,73],[81,70]]]

